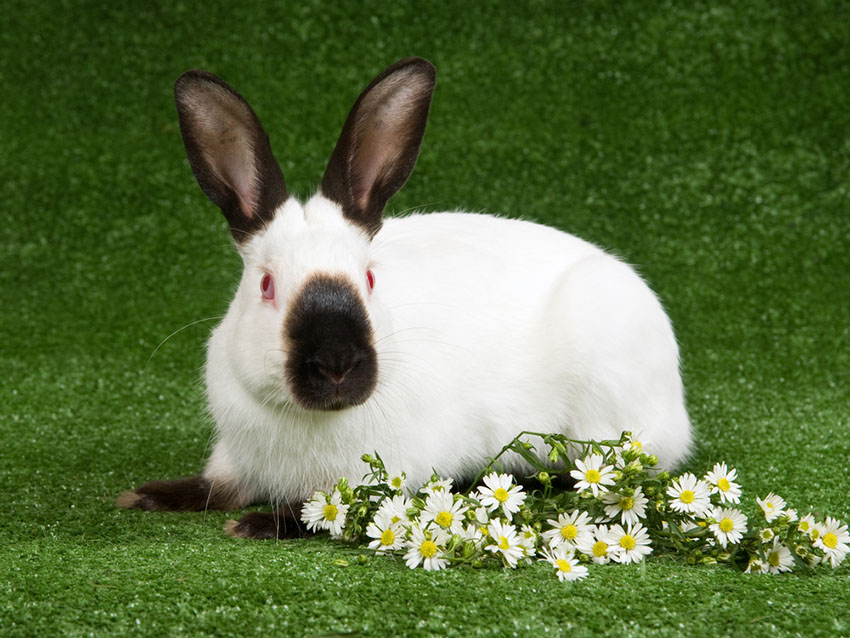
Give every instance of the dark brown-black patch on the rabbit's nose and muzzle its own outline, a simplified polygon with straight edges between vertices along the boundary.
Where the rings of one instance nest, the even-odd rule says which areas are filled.
[[[283,326],[287,381],[299,405],[340,410],[366,401],[378,380],[372,325],[346,277],[313,276]]]

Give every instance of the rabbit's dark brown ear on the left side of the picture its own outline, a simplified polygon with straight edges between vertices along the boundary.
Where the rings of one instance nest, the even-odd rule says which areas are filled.
[[[212,73],[181,75],[174,99],[198,184],[221,208],[241,244],[286,200],[283,173],[268,136],[245,99]]]

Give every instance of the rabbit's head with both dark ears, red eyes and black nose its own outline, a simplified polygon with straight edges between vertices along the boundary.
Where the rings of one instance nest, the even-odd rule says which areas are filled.
[[[225,321],[227,360],[258,400],[339,410],[374,391],[380,281],[370,243],[413,170],[434,80],[419,58],[376,77],[348,115],[319,192],[302,205],[242,96],[203,71],[178,78],[189,163],[244,262]]]

